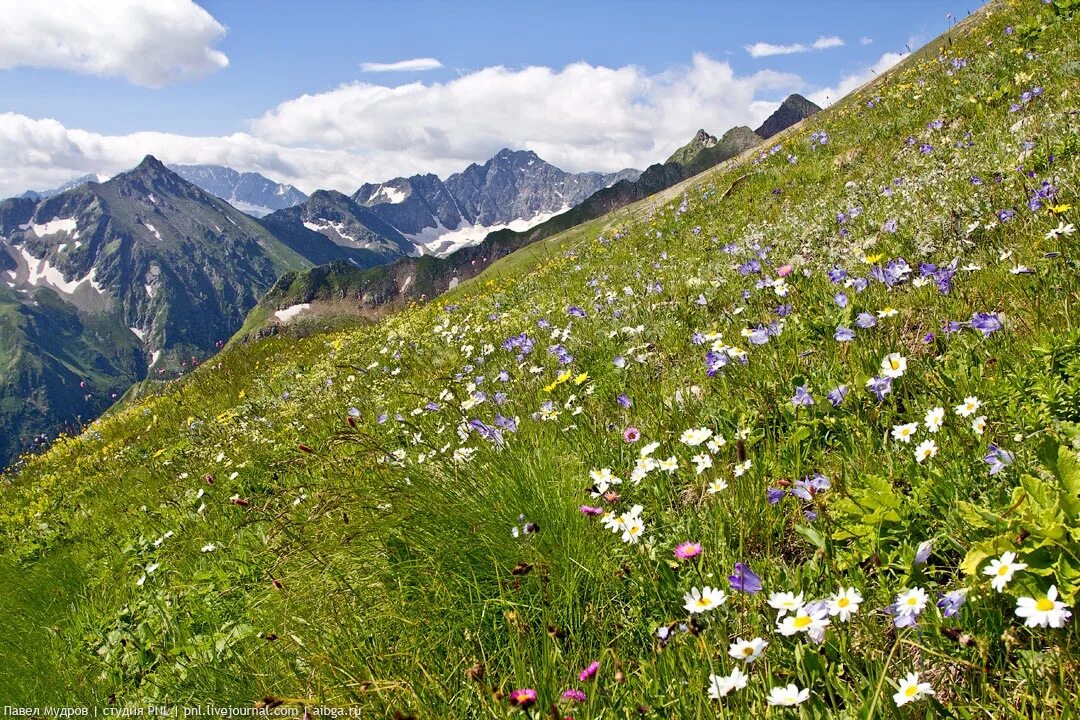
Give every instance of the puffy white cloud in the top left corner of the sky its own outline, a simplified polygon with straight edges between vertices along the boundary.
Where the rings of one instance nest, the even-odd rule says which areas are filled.
[[[59,68],[136,85],[200,78],[229,65],[225,26],[191,0],[0,0],[0,69]]]

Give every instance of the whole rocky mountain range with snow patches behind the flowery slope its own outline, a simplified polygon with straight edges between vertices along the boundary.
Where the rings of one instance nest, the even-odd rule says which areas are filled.
[[[787,105],[781,123],[805,117]],[[433,297],[760,141],[746,127],[702,132],[665,163],[608,174],[508,149],[445,180],[394,178],[352,195],[147,157],[111,179],[0,202],[0,466],[133,383],[198,363],[264,296],[264,313],[332,288],[372,307]]]

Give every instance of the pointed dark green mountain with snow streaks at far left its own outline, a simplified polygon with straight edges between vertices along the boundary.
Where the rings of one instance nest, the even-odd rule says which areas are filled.
[[[107,182],[0,203],[0,338],[13,357],[0,393],[50,398],[0,410],[0,465],[35,435],[96,417],[148,365],[176,371],[212,352],[283,272],[341,257],[318,234],[279,241],[153,158]]]

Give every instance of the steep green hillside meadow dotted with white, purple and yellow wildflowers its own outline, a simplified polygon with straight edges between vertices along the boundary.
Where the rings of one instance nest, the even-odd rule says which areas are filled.
[[[994,4],[670,202],[32,459],[0,697],[1068,717],[1075,5]]]

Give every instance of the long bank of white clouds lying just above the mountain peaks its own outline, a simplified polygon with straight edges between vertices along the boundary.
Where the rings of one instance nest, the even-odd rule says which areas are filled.
[[[261,172],[308,192],[352,192],[414,173],[445,177],[503,147],[535,150],[568,171],[644,168],[699,127],[718,135],[756,126],[777,106],[769,98],[805,87],[795,74],[737,76],[728,63],[698,54],[656,74],[578,63],[490,67],[445,83],[353,82],[282,103],[246,132],[218,137],[102,135],[0,113],[0,198],[121,172],[147,153]]]

